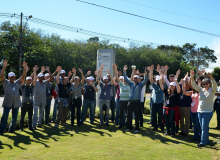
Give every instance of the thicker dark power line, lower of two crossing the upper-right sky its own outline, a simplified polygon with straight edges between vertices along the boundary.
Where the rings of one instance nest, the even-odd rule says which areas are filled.
[[[97,5],[97,4],[94,4],[94,3],[89,3],[89,2],[85,2],[85,1],[81,1],[81,0],[76,0],[76,1],[82,2],[82,3],[86,3],[86,4],[90,4],[90,5],[97,6],[97,7],[101,7],[101,8],[105,8],[105,9],[109,9],[109,10],[112,10],[112,11],[128,14],[128,15],[131,15],[131,16],[135,16],[135,17],[151,20],[151,21],[154,21],[154,22],[167,24],[167,25],[170,25],[170,26],[174,26],[174,27],[178,27],[178,28],[182,28],[182,29],[187,29],[187,30],[191,30],[191,31],[194,31],[194,32],[202,33],[202,34],[207,34],[207,35],[214,36],[214,37],[220,37],[220,35],[218,35],[218,34],[209,33],[209,32],[205,32],[205,31],[200,31],[200,30],[197,30],[197,29],[193,29],[193,28],[189,28],[189,27],[184,27],[184,26],[180,26],[180,25],[176,25],[176,24],[172,24],[172,23],[168,23],[168,22],[164,22],[164,21],[160,21],[160,20],[144,17],[144,16],[139,16],[139,15],[136,15],[136,14],[133,14],[133,13],[120,11],[120,10],[117,10],[117,9],[113,9],[113,8]]]

